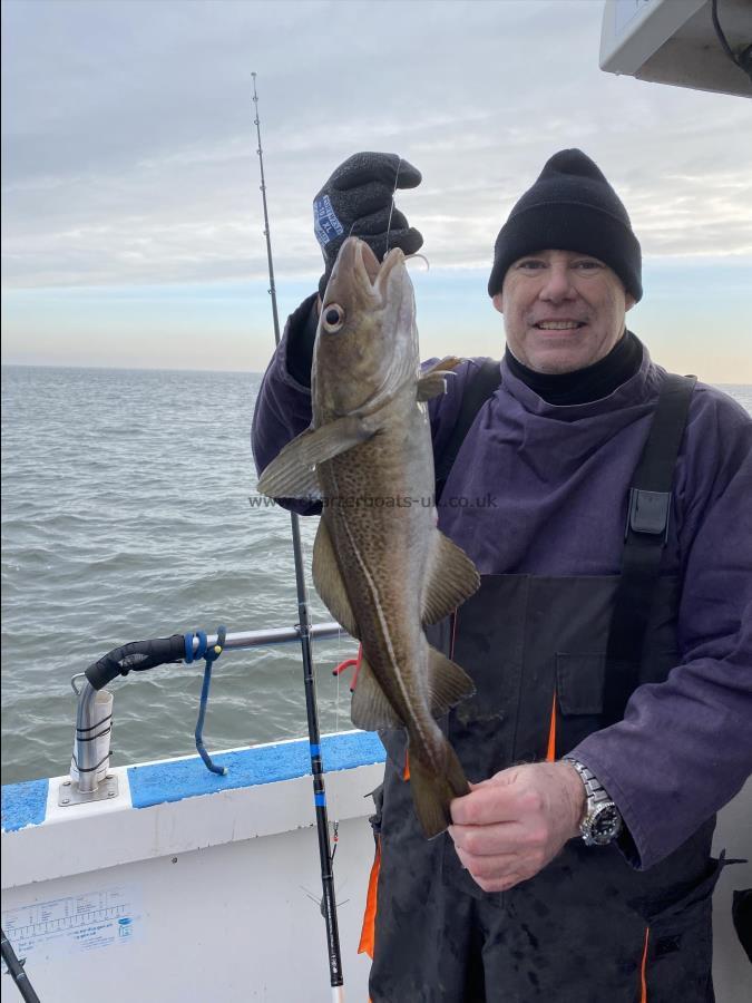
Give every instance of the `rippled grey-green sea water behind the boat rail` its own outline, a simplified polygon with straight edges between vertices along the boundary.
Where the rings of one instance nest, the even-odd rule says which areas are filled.
[[[296,620],[290,516],[251,508],[250,428],[261,377],[149,370],[2,370],[2,782],[67,772],[70,676],[110,649],[195,627]],[[752,387],[724,387],[752,408]],[[318,519],[302,520],[310,567]],[[331,617],[313,590],[314,621]],[[315,647],[322,730],[349,728]],[[201,663],[203,665],[203,663]],[[117,763],[194,751],[201,669],[111,684]],[[305,733],[295,645],[218,661],[209,749]]]

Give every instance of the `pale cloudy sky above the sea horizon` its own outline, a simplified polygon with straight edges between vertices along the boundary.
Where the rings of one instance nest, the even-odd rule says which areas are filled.
[[[678,2],[678,0],[676,0]],[[424,357],[496,356],[486,283],[556,150],[592,156],[644,254],[653,358],[752,383],[752,101],[598,68],[602,0],[7,0],[2,360],[263,370],[274,347],[252,71],[280,313],[322,271],[311,203],[359,149],[397,204]]]

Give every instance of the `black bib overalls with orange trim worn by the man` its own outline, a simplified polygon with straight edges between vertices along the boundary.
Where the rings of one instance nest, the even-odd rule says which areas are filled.
[[[554,701],[556,758],[605,727],[619,580],[485,575],[455,617],[428,631],[476,684],[443,722],[470,780],[546,759]],[[678,595],[675,577],[658,580],[635,684],[662,682],[678,660]],[[647,871],[616,846],[572,839],[530,880],[488,894],[461,868],[448,834],[423,837],[402,779],[403,732],[382,740],[372,1003],[713,1001],[714,818]]]

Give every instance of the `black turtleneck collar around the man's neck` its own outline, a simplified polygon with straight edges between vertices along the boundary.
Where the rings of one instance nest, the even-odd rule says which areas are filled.
[[[559,407],[589,403],[608,397],[637,373],[642,361],[642,342],[631,331],[626,331],[603,359],[574,372],[536,372],[516,359],[509,348],[505,352],[509,372],[546,403]]]

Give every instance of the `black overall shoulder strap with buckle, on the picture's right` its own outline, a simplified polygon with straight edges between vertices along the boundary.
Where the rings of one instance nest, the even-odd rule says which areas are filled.
[[[671,487],[696,377],[670,373],[629,488],[622,577],[606,649],[604,727],[621,721],[639,684],[645,631],[668,538]]]

